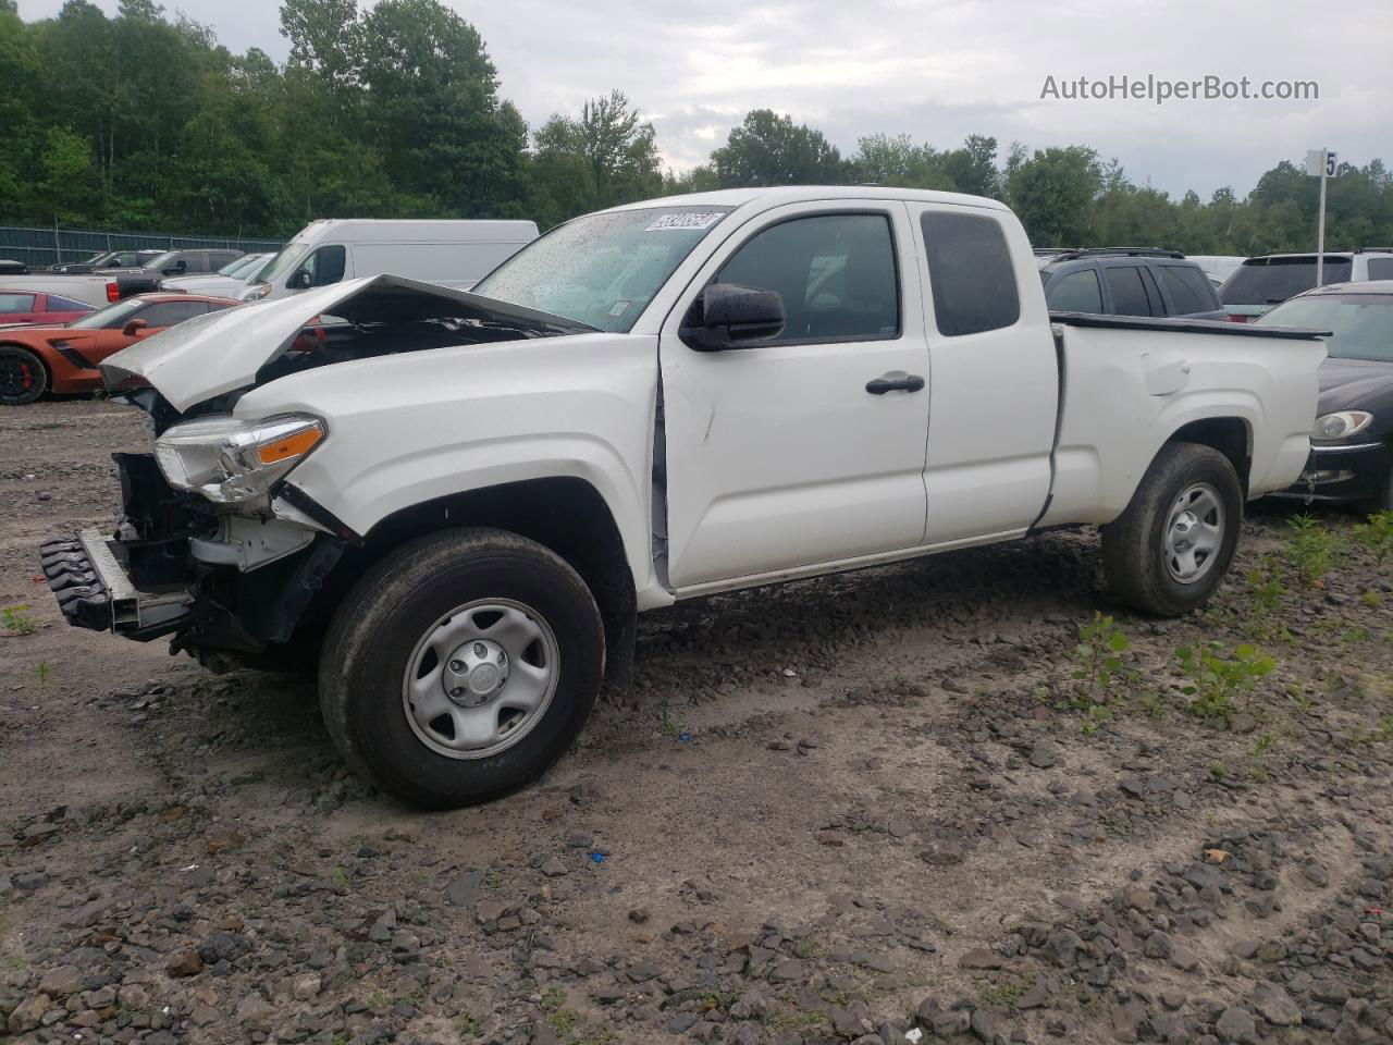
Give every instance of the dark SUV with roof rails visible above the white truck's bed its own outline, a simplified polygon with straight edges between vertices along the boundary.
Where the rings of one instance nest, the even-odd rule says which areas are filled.
[[[1204,269],[1178,251],[1156,247],[1036,251],[1036,263],[1052,312],[1227,318]]]

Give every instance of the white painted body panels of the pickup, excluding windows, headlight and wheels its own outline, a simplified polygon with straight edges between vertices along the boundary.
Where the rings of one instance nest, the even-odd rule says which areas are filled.
[[[359,534],[444,495],[582,479],[617,524],[639,609],[1007,539],[1035,525],[1107,522],[1159,447],[1205,418],[1245,425],[1250,496],[1301,472],[1325,357],[1318,337],[1276,340],[1174,320],[1052,326],[1025,233],[1002,203],[812,187],[616,212],[659,206],[729,210],[635,305],[627,332],[337,362],[251,387],[233,412],[323,418],[327,436],[288,481]],[[683,340],[696,295],[754,237],[848,213],[876,216],[893,234],[897,329],[727,351]],[[942,213],[986,217],[1000,230],[1018,294],[1014,322],[958,336],[939,330],[924,217]],[[662,226],[648,234],[681,233]],[[251,385],[312,315],[358,286],[192,320],[177,336],[113,357],[114,371],[143,373],[184,410]],[[520,309],[465,297],[504,319]],[[811,291],[801,305],[809,302]],[[546,315],[517,311],[524,314]],[[922,378],[922,386],[868,394],[868,382],[894,373]]]

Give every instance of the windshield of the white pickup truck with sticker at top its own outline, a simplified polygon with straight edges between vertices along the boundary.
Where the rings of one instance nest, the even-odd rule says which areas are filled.
[[[731,209],[662,206],[577,217],[514,254],[474,293],[627,333]]]

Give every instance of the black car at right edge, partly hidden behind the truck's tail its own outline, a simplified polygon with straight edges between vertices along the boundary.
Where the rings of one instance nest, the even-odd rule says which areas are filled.
[[[1393,280],[1308,290],[1256,325],[1332,332],[1311,460],[1297,485],[1277,496],[1393,510]]]

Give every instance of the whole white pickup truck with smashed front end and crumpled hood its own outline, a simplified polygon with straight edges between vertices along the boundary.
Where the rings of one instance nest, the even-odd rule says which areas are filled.
[[[318,656],[344,757],[454,807],[546,769],[676,599],[1096,524],[1120,599],[1201,605],[1244,500],[1301,474],[1323,358],[1309,330],[1052,318],[989,199],[659,199],[472,293],[347,281],[111,357],[155,453],[117,456],[114,536],[43,564],[75,624]]]

